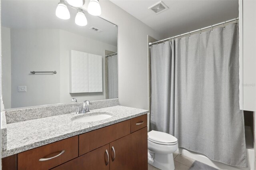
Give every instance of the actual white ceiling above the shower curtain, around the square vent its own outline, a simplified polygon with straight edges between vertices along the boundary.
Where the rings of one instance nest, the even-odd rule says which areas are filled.
[[[238,0],[162,0],[168,10],[148,9],[160,0],[110,0],[164,38],[238,17]]]

